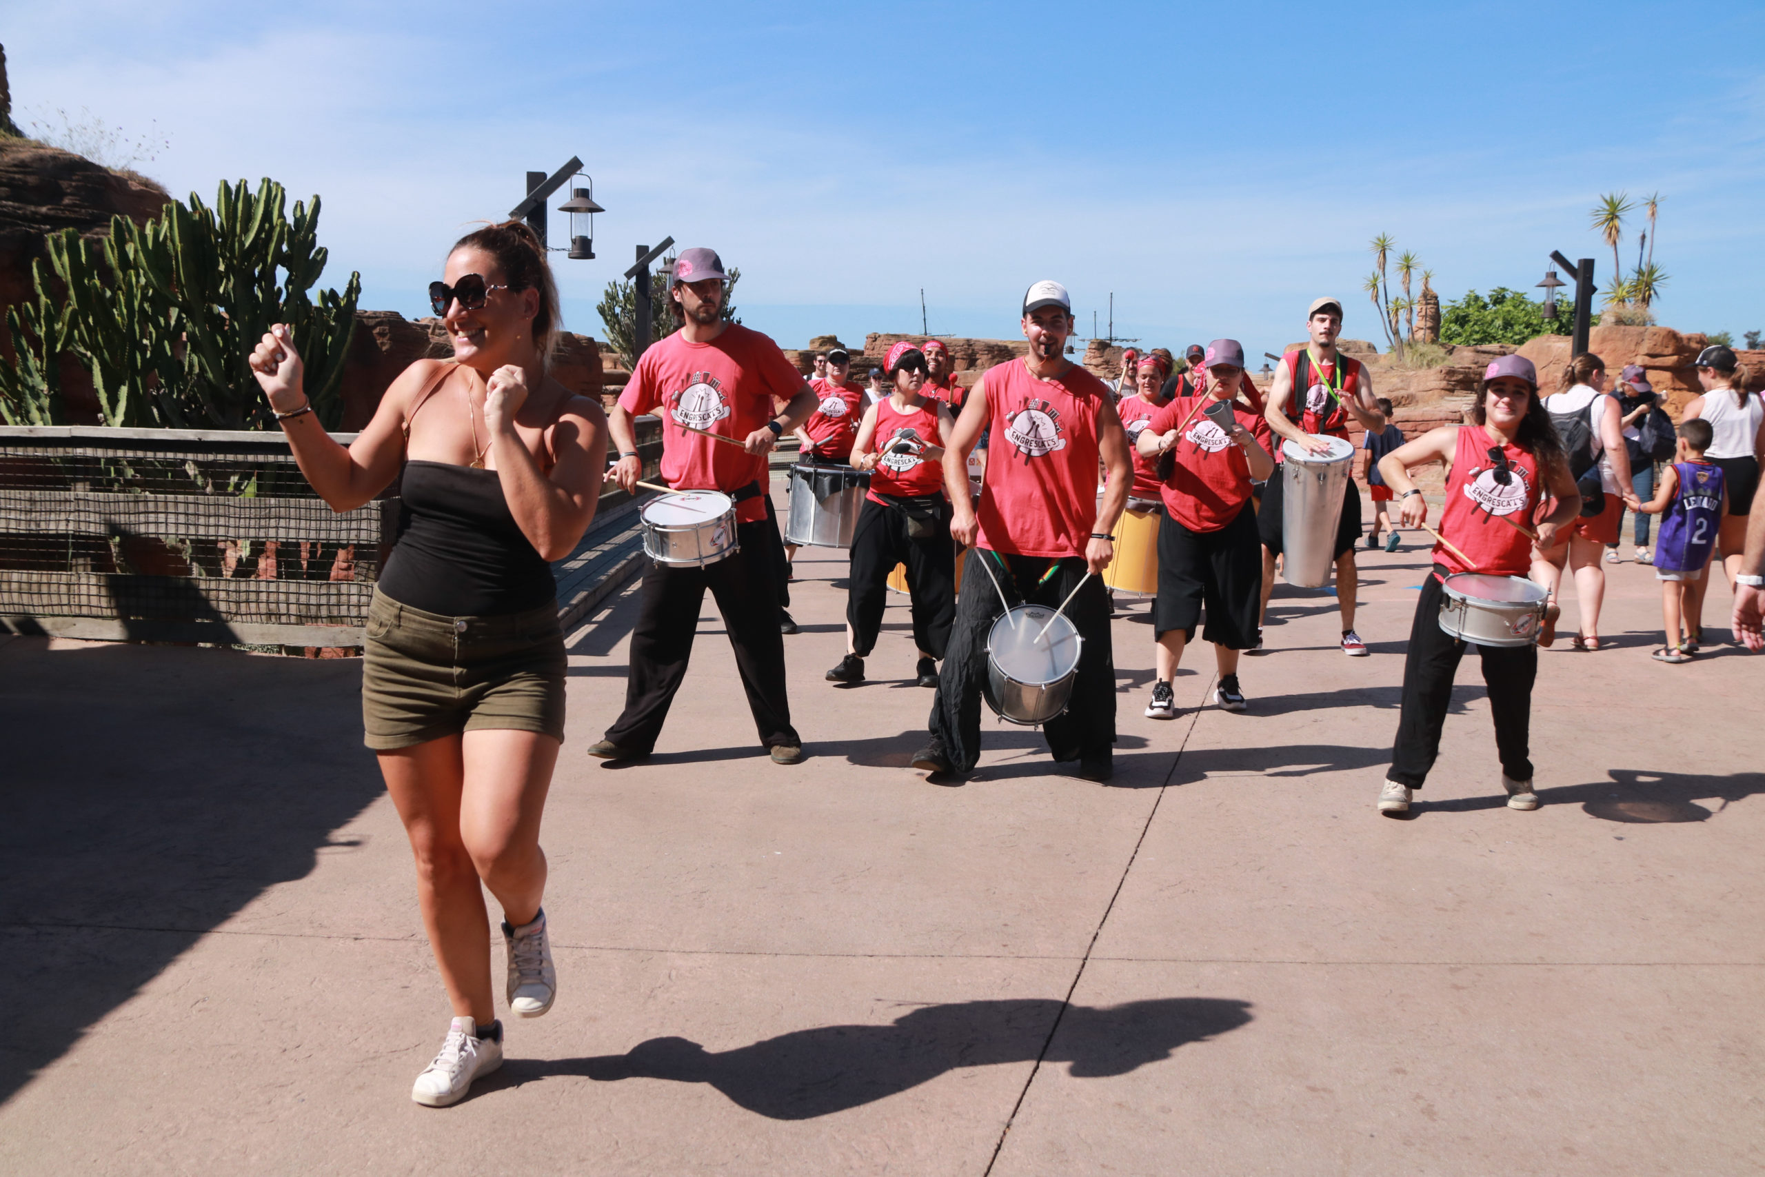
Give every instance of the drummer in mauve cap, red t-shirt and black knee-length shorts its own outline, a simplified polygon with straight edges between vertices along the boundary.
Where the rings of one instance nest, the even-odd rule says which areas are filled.
[[[1220,674],[1214,702],[1227,711],[1250,706],[1237,685],[1239,655],[1257,644],[1262,593],[1250,484],[1267,478],[1274,459],[1264,448],[1267,422],[1237,404],[1244,348],[1236,339],[1213,341],[1207,371],[1207,392],[1177,397],[1158,409],[1135,445],[1140,459],[1154,466],[1163,459],[1167,469],[1160,480],[1165,519],[1158,526],[1158,600],[1153,603],[1158,672],[1145,708],[1153,720],[1177,716],[1170,679],[1204,607],[1207,628],[1202,637],[1214,646]],[[1228,427],[1207,416],[1211,404],[1230,406]]]

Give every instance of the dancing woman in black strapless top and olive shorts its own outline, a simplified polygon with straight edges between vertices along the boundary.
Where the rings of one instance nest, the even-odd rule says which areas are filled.
[[[344,448],[318,424],[277,325],[251,367],[300,471],[332,510],[399,480],[399,535],[367,614],[362,718],[417,856],[417,900],[454,1023],[411,1098],[461,1099],[501,1066],[489,888],[505,999],[537,1018],[558,981],[540,898],[540,815],[563,743],[565,651],[549,561],[600,498],[605,416],[547,374],[558,291],[517,221],[462,236],[429,296],[454,360],[418,360]]]

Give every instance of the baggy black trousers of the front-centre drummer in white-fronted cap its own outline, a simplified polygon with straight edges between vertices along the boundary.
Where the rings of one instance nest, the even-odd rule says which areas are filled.
[[[1006,598],[1017,603],[1059,607],[1085,575],[1078,558],[1047,559],[1038,556],[995,556],[985,549],[969,551],[962,568],[962,593],[957,596],[957,621],[950,628],[950,646],[932,697],[932,746],[941,748],[950,764],[967,773],[981,759],[981,685],[987,681],[987,633],[1004,612],[999,593],[987,577],[992,568]],[[1001,570],[1001,559],[1006,570]],[[1050,565],[1055,574],[1041,581]],[[1091,577],[1066,607],[1066,616],[1084,648],[1078,678],[1073,681],[1066,713],[1041,725],[1048,752],[1055,761],[1112,759],[1115,743],[1115,655],[1110,648],[1108,589],[1101,577]]]

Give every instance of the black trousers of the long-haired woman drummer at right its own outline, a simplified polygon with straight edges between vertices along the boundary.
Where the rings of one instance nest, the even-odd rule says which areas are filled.
[[[1483,681],[1490,688],[1490,716],[1495,720],[1495,750],[1502,771],[1513,780],[1532,780],[1528,741],[1532,734],[1532,683],[1539,674],[1537,646],[1476,646],[1440,628],[1440,598],[1446,589],[1438,577],[1423,581],[1410,625],[1410,646],[1403,656],[1403,709],[1398,715],[1398,743],[1391,753],[1387,776],[1400,785],[1421,789],[1440,755],[1440,729],[1453,702],[1453,674],[1465,648],[1483,658]]]

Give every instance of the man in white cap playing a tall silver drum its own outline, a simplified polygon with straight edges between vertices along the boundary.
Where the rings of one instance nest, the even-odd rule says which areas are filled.
[[[1281,441],[1294,441],[1311,454],[1327,454],[1320,438],[1348,439],[1348,418],[1378,432],[1386,415],[1373,397],[1373,378],[1366,365],[1336,351],[1341,334],[1341,302],[1318,298],[1306,314],[1311,344],[1288,351],[1274,367],[1274,385],[1264,418],[1274,431],[1274,461],[1281,461]],[[1382,469],[1382,468],[1380,468]],[[1274,558],[1281,554],[1281,478],[1273,475],[1262,489],[1257,531],[1262,535],[1262,612],[1269,611],[1274,588]],[[1354,595],[1361,579],[1354,566],[1354,545],[1361,538],[1361,487],[1354,478],[1343,487],[1341,519],[1336,524],[1336,607],[1341,611],[1341,651],[1366,656],[1366,642],[1354,632]]]

